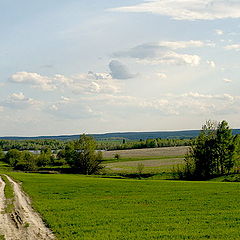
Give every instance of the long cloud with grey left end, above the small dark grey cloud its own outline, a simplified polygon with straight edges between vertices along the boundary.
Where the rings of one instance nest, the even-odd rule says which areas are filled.
[[[196,54],[178,53],[177,49],[193,47],[214,46],[212,43],[202,41],[162,41],[138,45],[126,51],[114,53],[115,57],[136,58],[145,64],[175,64],[197,66],[201,58]]]

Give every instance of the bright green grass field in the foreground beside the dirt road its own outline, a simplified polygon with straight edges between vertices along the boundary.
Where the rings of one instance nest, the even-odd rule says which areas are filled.
[[[10,175],[59,240],[240,239],[238,183]]]

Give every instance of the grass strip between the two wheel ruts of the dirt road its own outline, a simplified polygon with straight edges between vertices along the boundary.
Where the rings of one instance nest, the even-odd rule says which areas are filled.
[[[6,176],[1,175],[1,178],[5,182],[5,188],[4,188],[4,195],[5,195],[5,198],[6,198],[6,201],[5,201],[5,212],[6,213],[11,213],[13,211],[13,208],[14,208],[13,186],[8,181]]]

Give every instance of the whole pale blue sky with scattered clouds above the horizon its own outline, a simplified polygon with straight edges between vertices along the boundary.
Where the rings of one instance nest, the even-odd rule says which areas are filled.
[[[239,0],[0,0],[0,136],[240,128]]]

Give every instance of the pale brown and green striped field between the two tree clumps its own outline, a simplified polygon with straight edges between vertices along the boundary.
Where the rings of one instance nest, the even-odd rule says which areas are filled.
[[[132,174],[138,172],[141,164],[144,174],[169,173],[183,164],[187,150],[188,147],[167,147],[106,151],[104,171],[106,174]],[[120,159],[114,159],[115,154],[119,154]]]

